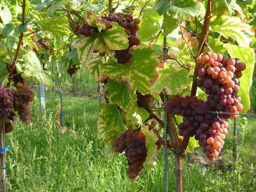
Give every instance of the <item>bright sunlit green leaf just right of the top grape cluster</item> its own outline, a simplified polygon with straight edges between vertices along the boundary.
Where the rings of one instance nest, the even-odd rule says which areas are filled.
[[[156,12],[156,10],[146,9],[140,20],[140,30],[138,31],[138,38],[141,42],[147,41],[148,37],[152,37],[157,31],[159,20],[162,17]]]

